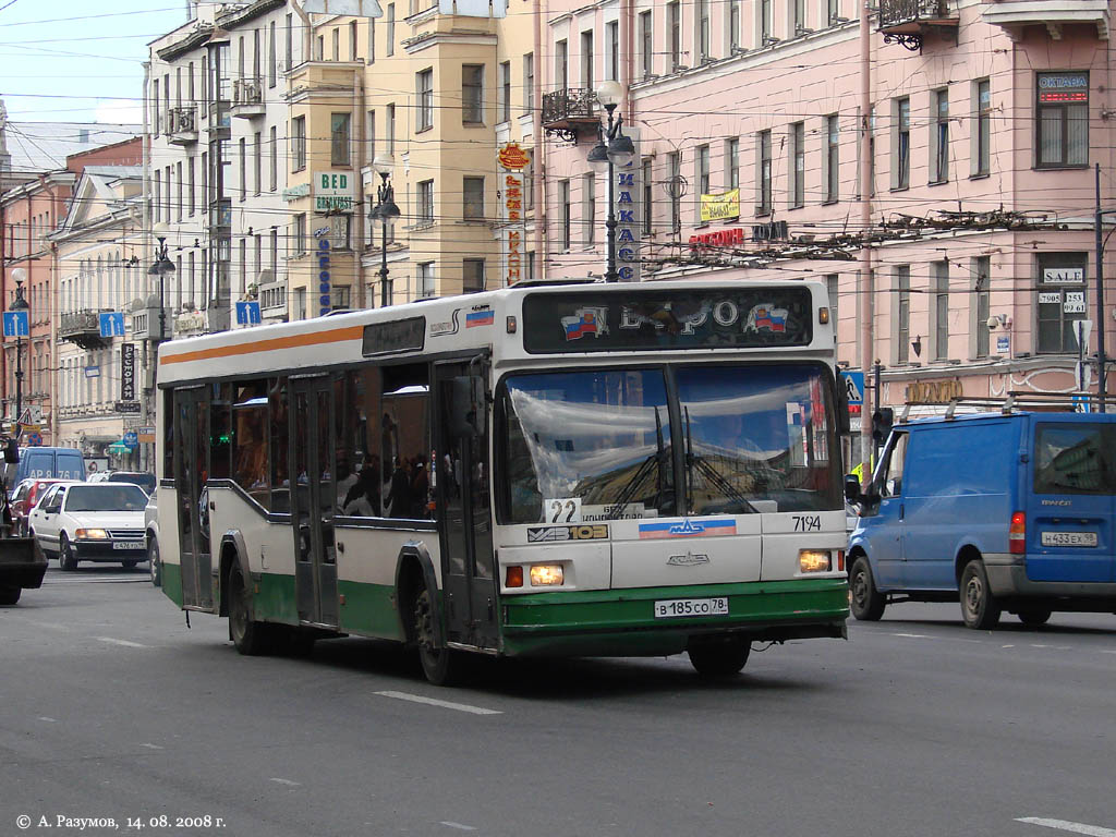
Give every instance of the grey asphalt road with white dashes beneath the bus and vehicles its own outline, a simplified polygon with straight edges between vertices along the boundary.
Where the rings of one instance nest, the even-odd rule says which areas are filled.
[[[191,623],[142,567],[52,564],[0,608],[0,835],[1116,837],[1116,616],[907,604],[728,684],[680,656],[453,690],[389,645],[247,658]]]

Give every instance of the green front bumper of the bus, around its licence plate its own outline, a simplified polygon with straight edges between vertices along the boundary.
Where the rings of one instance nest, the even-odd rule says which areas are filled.
[[[721,616],[656,618],[655,602],[725,597]],[[845,638],[844,578],[645,587],[504,596],[508,656],[664,656],[693,636],[734,634],[759,642]]]

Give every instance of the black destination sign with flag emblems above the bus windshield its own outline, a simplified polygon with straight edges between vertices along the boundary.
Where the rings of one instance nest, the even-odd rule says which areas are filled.
[[[523,300],[531,354],[807,346],[809,288],[538,292]]]

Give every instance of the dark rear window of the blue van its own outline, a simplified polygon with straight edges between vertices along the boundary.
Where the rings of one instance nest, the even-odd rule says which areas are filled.
[[[1039,424],[1035,439],[1035,493],[1116,493],[1114,442],[1116,431],[1112,425]]]

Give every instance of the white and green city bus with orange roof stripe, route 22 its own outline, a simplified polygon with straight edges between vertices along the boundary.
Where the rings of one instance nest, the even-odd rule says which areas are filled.
[[[668,655],[845,636],[824,286],[514,288],[163,344],[163,589],[244,654]]]

